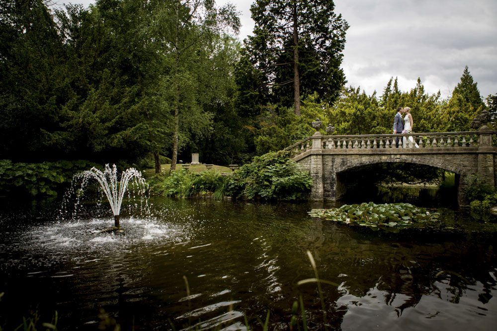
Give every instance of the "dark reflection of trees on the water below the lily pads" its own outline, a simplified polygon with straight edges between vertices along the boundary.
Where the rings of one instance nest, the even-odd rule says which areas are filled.
[[[372,233],[316,220],[299,248],[313,252],[322,279],[343,282],[346,295],[355,298],[379,290],[384,303],[397,305],[401,316],[426,295],[457,304],[467,291],[477,290],[479,301],[488,303],[497,276],[493,244],[495,239],[486,234]],[[334,305],[336,293],[329,290],[327,299],[339,314],[343,307]]]

